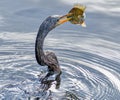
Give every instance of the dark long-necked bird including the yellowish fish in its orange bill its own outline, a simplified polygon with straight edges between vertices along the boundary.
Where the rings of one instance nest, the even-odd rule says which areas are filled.
[[[46,36],[51,30],[67,21],[70,21],[72,24],[83,24],[83,26],[85,26],[83,15],[84,10],[85,7],[81,5],[75,6],[68,14],[49,16],[40,25],[35,42],[35,57],[39,65],[48,66],[49,73],[46,77],[55,73],[58,75],[62,73],[55,53],[49,51],[44,52],[43,45]]]

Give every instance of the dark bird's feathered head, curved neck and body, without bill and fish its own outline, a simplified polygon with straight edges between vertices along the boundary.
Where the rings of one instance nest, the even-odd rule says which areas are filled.
[[[39,65],[48,66],[49,74],[61,73],[61,68],[59,66],[58,59],[53,52],[44,52],[43,44],[47,34],[54,29],[56,26],[60,25],[61,16],[49,16],[40,25],[36,43],[35,43],[35,57]]]

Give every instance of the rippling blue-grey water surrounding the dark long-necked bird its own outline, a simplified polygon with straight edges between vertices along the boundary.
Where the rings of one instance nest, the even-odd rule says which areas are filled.
[[[0,1],[0,100],[119,100],[118,0],[81,0],[87,27],[65,23],[49,33],[44,48],[55,52],[62,74],[59,89],[53,81],[43,91],[38,75],[47,67],[35,60],[35,38],[45,17],[71,9],[73,2],[61,1]]]

